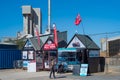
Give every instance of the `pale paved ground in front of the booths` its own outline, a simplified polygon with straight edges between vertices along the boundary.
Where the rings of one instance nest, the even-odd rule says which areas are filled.
[[[72,73],[56,74],[56,79],[49,79],[48,71],[27,72],[21,69],[0,70],[1,80],[120,80],[120,73],[94,73],[81,77]]]

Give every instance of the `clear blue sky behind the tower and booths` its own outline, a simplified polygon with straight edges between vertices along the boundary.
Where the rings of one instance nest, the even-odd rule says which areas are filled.
[[[76,30],[83,34],[96,34],[120,31],[120,0],[51,0],[51,24],[56,23],[59,31],[68,31],[68,41]],[[48,23],[48,0],[1,0],[0,2],[0,37],[16,37],[23,31],[22,5],[41,8],[42,32]],[[80,14],[82,22],[75,26],[74,21]],[[110,34],[116,36],[118,34]],[[91,36],[97,43],[105,35]]]

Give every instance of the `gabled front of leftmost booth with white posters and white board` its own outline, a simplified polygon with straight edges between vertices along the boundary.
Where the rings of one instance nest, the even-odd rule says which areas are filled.
[[[36,51],[28,39],[22,50],[22,61],[23,61],[23,69],[26,69],[28,72],[36,72]]]

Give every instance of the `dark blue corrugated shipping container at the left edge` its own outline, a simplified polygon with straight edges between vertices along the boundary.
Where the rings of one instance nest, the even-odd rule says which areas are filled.
[[[0,49],[0,69],[14,68],[14,61],[22,60],[21,50]]]

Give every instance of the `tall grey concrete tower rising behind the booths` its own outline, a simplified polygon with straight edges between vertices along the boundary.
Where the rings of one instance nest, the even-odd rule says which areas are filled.
[[[40,8],[32,8],[29,5],[22,6],[23,14],[23,32],[24,35],[31,34],[35,36],[34,27],[38,28],[39,33],[42,33],[41,28],[41,11]]]

